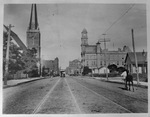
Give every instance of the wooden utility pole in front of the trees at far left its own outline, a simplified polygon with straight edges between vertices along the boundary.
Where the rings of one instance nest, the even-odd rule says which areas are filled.
[[[4,85],[7,85],[7,77],[8,77],[8,66],[9,66],[9,46],[10,46],[10,33],[11,28],[14,27],[9,24],[8,27],[8,40],[7,40],[7,48],[6,48],[6,64],[5,64],[5,74],[4,74]]]

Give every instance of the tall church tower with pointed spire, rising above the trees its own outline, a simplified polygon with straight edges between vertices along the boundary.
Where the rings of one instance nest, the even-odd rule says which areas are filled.
[[[27,48],[32,49],[35,48],[37,50],[37,58],[39,60],[39,72],[41,65],[41,35],[37,18],[37,9],[36,4],[32,4],[31,6],[31,15],[29,27],[27,29]]]

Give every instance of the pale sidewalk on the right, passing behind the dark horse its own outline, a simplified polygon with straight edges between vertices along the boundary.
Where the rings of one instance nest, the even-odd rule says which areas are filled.
[[[102,80],[105,82],[124,84],[124,81],[122,80],[121,77],[108,77],[108,80],[107,80],[107,78],[103,78],[103,77],[92,77],[92,78]],[[134,84],[134,86],[138,86],[137,81],[133,81],[133,84]],[[139,86],[144,87],[144,88],[148,88],[148,82],[140,82]]]

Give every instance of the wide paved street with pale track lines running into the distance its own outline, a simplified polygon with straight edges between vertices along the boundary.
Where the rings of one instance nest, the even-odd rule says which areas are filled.
[[[147,89],[132,92],[123,87],[87,77],[42,79],[4,89],[3,113],[147,113]]]

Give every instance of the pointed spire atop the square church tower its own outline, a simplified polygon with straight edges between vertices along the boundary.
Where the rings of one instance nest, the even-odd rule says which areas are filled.
[[[33,29],[33,30],[37,30],[38,29],[38,19],[37,19],[36,4],[32,4],[32,6],[31,6],[29,30],[31,30],[31,29]]]

